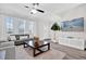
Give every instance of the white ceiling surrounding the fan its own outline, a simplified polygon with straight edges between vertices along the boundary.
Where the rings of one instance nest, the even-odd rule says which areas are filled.
[[[17,17],[26,17],[26,18],[50,18],[53,15],[58,15],[61,12],[73,9],[81,3],[40,3],[39,9],[44,10],[45,13],[37,12],[36,14],[30,14],[32,3],[0,3],[0,13],[17,16]],[[29,9],[24,8],[24,5],[30,7]]]

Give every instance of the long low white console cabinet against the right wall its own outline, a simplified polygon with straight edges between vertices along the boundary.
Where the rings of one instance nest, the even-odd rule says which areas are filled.
[[[84,50],[86,48],[85,39],[79,39],[79,38],[72,38],[72,37],[59,38],[59,43],[77,48],[81,50]]]

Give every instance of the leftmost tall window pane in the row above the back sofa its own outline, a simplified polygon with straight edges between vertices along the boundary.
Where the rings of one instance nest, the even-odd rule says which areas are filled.
[[[8,34],[13,33],[13,18],[12,17],[5,17],[5,28]]]

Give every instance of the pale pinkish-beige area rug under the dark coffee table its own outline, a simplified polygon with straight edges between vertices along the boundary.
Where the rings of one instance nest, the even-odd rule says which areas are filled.
[[[30,48],[16,48],[16,60],[62,60],[64,56],[64,52],[51,48],[49,51],[34,57]]]

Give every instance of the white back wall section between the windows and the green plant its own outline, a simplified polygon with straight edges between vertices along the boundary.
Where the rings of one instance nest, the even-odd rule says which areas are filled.
[[[52,22],[52,21],[51,21]],[[51,23],[49,20],[42,20],[40,18],[37,22],[37,36],[39,36],[40,39],[45,39],[45,38],[51,38]]]

